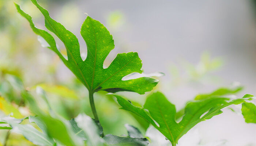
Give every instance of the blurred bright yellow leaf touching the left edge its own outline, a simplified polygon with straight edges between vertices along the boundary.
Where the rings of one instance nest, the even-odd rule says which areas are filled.
[[[23,118],[22,114],[20,114],[19,110],[15,108],[12,104],[5,101],[3,97],[0,97],[0,110],[4,112],[5,115],[9,115],[13,113],[15,118]]]

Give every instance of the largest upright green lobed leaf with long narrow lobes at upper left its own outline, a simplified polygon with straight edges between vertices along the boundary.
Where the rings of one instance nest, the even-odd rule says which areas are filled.
[[[36,0],[31,1],[44,15],[46,28],[64,43],[68,61],[56,49],[53,37],[48,32],[35,28],[31,17],[16,4],[18,12],[30,22],[33,31],[49,43],[49,48],[59,55],[64,64],[78,77],[89,92],[105,90],[108,92],[132,91],[144,94],[157,85],[158,80],[150,77],[122,80],[124,76],[133,72],[142,73],[142,61],[136,52],[117,54],[110,66],[106,69],[103,68],[103,62],[110,51],[114,49],[114,41],[106,27],[89,16],[81,28],[81,35],[87,45],[87,58],[83,61],[76,36],[50,18],[48,11],[42,8]]]

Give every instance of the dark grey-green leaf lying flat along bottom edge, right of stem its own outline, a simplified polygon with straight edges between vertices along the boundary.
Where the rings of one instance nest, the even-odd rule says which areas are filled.
[[[112,134],[106,135],[103,139],[108,146],[147,146],[149,143],[147,138],[118,137]]]

